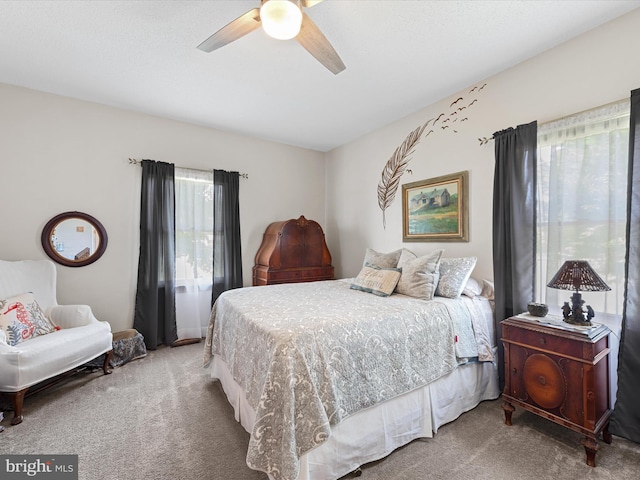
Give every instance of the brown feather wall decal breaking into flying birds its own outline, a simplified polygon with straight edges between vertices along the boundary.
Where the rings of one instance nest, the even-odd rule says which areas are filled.
[[[475,96],[480,92],[480,90],[482,90],[486,86],[487,86],[486,83],[483,84],[481,87],[478,87],[476,85],[471,90],[469,90],[469,94],[472,94],[475,92],[474,93],[474,96]],[[454,119],[453,116],[457,115],[462,110],[473,107],[473,105],[478,101],[478,99],[473,98],[473,100],[471,100],[471,102],[466,106],[465,105],[458,106],[460,102],[466,103],[467,101],[469,100],[466,100],[464,97],[458,97],[455,101],[453,101],[449,105],[449,108],[451,109],[451,111],[448,114],[442,112],[438,115],[437,118],[429,119],[427,120],[427,123],[425,123],[421,127],[416,128],[413,132],[407,135],[407,138],[404,139],[404,142],[402,142],[402,145],[396,148],[391,158],[387,161],[386,165],[384,166],[384,169],[382,170],[382,178],[378,183],[378,206],[380,207],[380,210],[382,210],[382,226],[384,228],[387,227],[385,212],[387,208],[389,208],[389,206],[393,203],[396,197],[396,192],[398,190],[398,187],[400,186],[400,177],[402,177],[402,175],[405,172],[409,172],[409,173],[411,172],[411,170],[407,169],[409,160],[411,160],[410,155],[413,153],[413,150],[415,149],[416,145],[420,142],[420,139],[422,138],[422,134],[424,130],[427,128],[429,123],[433,121],[433,123],[431,124],[432,129],[429,130],[427,134],[424,136],[426,138],[430,134],[435,133],[433,131],[433,128],[435,128],[436,123],[438,123],[440,119],[445,117],[440,122],[441,124],[440,130],[442,130],[443,133],[445,133],[446,131],[451,131],[452,133],[457,134],[458,130],[453,128],[449,129],[449,126],[444,124],[449,121],[451,121],[451,123],[455,122],[457,118]],[[460,122],[464,122],[466,120],[469,120],[469,118],[464,117],[462,120],[460,120]],[[478,140],[480,140],[480,143],[482,144],[483,140],[482,139],[478,139]]]

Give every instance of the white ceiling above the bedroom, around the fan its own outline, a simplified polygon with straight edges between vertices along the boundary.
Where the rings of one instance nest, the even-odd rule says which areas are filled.
[[[346,64],[338,75],[261,29],[196,49],[259,4],[0,1],[0,82],[328,151],[640,0],[326,0],[306,13]]]

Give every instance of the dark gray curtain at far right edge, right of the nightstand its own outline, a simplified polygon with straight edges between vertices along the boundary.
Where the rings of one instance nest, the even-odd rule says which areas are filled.
[[[618,355],[618,397],[610,430],[640,442],[640,89],[631,92],[627,254],[622,335]]]

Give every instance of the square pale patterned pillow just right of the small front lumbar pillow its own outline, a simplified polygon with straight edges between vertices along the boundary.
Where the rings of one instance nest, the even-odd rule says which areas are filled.
[[[406,248],[402,249],[398,268],[402,275],[398,281],[396,292],[422,300],[432,300],[438,284],[438,267],[442,250],[418,257]]]

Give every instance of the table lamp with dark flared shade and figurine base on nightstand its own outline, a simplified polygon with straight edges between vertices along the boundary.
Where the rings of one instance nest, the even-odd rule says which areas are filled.
[[[564,302],[562,316],[572,325],[591,326],[595,312],[591,305],[585,305],[580,290],[587,292],[606,292],[611,290],[604,280],[585,260],[567,260],[558,273],[547,283],[547,287],[560,290],[575,290],[571,304]]]

